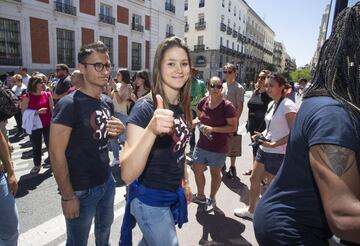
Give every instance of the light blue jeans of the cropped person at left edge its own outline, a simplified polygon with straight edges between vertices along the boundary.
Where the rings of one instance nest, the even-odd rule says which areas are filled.
[[[19,217],[14,196],[11,194],[6,177],[0,172],[0,245],[17,245]]]

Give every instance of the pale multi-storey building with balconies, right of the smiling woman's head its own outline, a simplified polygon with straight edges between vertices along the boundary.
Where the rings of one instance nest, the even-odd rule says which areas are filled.
[[[241,83],[273,63],[275,33],[243,0],[185,0],[185,40],[204,79],[237,66]]]

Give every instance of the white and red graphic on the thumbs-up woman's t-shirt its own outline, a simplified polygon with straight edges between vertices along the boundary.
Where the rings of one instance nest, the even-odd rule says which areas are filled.
[[[185,158],[185,151],[183,151],[186,147],[186,144],[190,139],[190,131],[185,123],[185,120],[182,116],[176,117],[174,120],[174,132],[171,135],[172,140],[175,142],[173,147],[173,153],[180,156],[176,158],[177,164],[180,164],[182,159]]]

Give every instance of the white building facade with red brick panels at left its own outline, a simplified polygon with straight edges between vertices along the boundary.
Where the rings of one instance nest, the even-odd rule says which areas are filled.
[[[184,35],[184,1],[2,0],[0,71],[77,65],[83,44],[103,41],[115,68],[152,70],[158,43]]]

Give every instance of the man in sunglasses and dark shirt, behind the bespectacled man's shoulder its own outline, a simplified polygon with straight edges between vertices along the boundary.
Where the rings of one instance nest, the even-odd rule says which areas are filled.
[[[56,77],[59,81],[56,83],[55,89],[53,91],[53,100],[54,105],[60,100],[60,98],[68,94],[69,89],[71,88],[71,77],[69,74],[69,67],[66,64],[57,64],[56,65]]]

